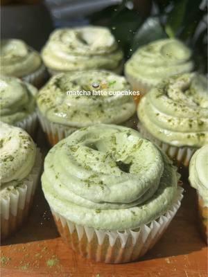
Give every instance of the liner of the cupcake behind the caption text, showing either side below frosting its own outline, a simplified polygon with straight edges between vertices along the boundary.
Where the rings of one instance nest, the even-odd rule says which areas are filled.
[[[58,123],[52,123],[47,118],[42,116],[40,114],[40,111],[37,111],[37,116],[40,120],[42,129],[46,133],[48,141],[51,145],[55,145],[62,139],[65,139],[67,136],[75,132],[76,130],[80,129],[79,127],[69,127]],[[129,120],[125,121],[125,123],[121,123],[121,125],[130,128],[135,128],[137,125],[136,116],[132,116]]]

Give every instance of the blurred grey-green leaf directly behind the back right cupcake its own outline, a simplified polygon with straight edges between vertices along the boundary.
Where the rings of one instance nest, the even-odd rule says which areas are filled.
[[[164,28],[162,27],[159,17],[148,17],[141,28],[137,30],[137,33],[132,41],[132,53],[134,53],[138,47],[153,42],[157,39],[163,39],[168,37]]]

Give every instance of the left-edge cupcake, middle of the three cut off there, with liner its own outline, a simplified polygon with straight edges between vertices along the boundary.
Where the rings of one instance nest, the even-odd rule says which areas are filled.
[[[37,125],[35,111],[37,89],[15,77],[0,76],[1,121],[34,134]]]

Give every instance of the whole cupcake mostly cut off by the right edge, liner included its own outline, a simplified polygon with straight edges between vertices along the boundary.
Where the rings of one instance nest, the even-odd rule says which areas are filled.
[[[197,191],[200,229],[208,244],[208,145],[193,154],[189,165],[189,182]]]

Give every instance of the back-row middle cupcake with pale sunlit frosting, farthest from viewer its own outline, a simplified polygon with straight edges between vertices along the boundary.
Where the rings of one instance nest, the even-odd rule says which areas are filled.
[[[42,50],[42,59],[51,75],[91,69],[121,73],[123,69],[123,52],[114,36],[98,26],[55,30]]]

